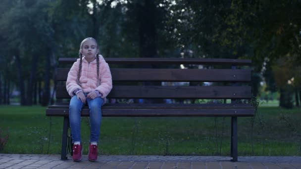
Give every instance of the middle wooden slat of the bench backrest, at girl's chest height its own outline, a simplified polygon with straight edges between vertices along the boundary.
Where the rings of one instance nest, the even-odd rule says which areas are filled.
[[[57,68],[56,80],[66,81],[70,68]],[[111,69],[113,81],[250,82],[248,69]]]

